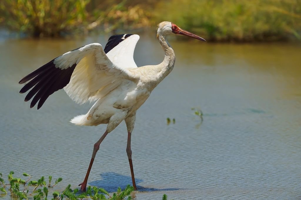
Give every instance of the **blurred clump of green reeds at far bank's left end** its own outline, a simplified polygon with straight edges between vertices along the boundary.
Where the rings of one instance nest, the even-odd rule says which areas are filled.
[[[87,19],[89,0],[1,0],[0,16],[8,29],[34,37],[58,36]]]

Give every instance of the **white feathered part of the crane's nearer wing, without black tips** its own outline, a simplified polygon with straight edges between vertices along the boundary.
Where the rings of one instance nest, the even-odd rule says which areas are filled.
[[[64,53],[54,64],[61,69],[77,64],[64,90],[73,101],[82,104],[103,97],[125,79],[134,79],[132,72],[120,67],[118,59],[115,61],[118,64],[111,62],[101,44],[93,43]]]

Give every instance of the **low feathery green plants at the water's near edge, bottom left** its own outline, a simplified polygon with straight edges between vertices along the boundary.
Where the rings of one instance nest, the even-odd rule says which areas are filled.
[[[18,198],[19,200],[40,200],[47,198],[50,199],[49,189],[53,188],[57,183],[61,182],[63,179],[58,178],[55,180],[55,183],[52,185],[51,180],[52,176],[48,177],[48,186],[46,186],[45,178],[42,176],[38,180],[30,180],[32,178],[31,175],[27,173],[23,173],[24,177],[27,177],[27,180],[23,180],[21,178],[13,177],[14,171],[11,171],[8,174],[8,184],[5,184],[5,180],[2,177],[2,173],[0,173],[0,197],[2,195],[7,195],[6,186],[10,186],[8,191],[10,192],[11,197]],[[30,180],[30,181],[29,181]],[[28,182],[28,183],[27,183]],[[27,183],[27,184],[26,184]],[[52,186],[51,186],[52,185]],[[20,188],[22,187],[22,188]],[[49,189],[48,189],[49,188]],[[93,200],[123,200],[127,197],[127,200],[131,200],[131,193],[134,191],[134,187],[127,185],[124,190],[121,190],[118,187],[117,191],[113,194],[110,194],[103,188],[98,188],[96,186],[88,186],[86,192],[79,192],[79,189],[71,189],[71,185],[69,184],[62,192],[53,191],[51,200],[63,200],[65,197],[71,200],[79,200],[79,199],[93,199]],[[2,194],[1,194],[2,192]],[[107,197],[105,196],[107,195]],[[167,195],[163,195],[163,200],[167,200]]]

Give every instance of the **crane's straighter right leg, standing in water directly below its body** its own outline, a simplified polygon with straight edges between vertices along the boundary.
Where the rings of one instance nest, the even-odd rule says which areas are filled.
[[[134,129],[135,120],[136,120],[136,112],[131,114],[129,117],[127,117],[125,119],[125,122],[126,122],[126,128],[128,130],[128,141],[127,141],[127,145],[126,145],[126,153],[129,158],[133,187],[135,190],[137,190],[136,183],[135,183],[135,177],[134,177],[134,169],[133,169],[133,162],[132,162],[132,150],[131,150],[131,135],[132,135],[132,131]]]

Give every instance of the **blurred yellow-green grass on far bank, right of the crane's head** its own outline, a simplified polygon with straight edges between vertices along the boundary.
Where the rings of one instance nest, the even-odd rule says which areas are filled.
[[[158,3],[157,18],[211,41],[301,39],[300,0],[170,0]]]

